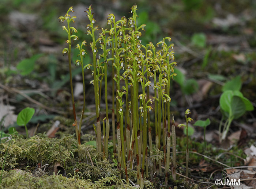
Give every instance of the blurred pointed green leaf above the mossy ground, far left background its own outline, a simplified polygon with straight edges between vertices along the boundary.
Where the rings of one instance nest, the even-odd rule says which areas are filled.
[[[22,76],[26,76],[30,74],[35,65],[35,61],[37,61],[38,58],[40,58],[43,54],[36,54],[30,58],[26,58],[22,60],[20,63],[17,65],[17,69],[20,71],[20,74]]]

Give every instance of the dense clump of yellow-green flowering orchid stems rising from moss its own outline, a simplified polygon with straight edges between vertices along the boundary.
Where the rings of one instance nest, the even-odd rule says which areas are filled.
[[[170,164],[172,164],[172,177],[176,180],[174,117],[172,117],[172,128],[170,128],[170,82],[171,78],[176,76],[173,69],[176,62],[174,62],[173,44],[170,43],[171,38],[163,38],[156,45],[153,45],[153,43],[143,45],[141,30],[144,30],[146,24],[137,27],[136,5],[133,5],[131,8],[132,17],[128,19],[123,17],[121,20],[116,20],[113,14],[109,14],[107,20],[108,29],[95,26],[96,20],[93,18],[92,9],[90,6],[85,12],[90,20],[90,23],[87,24],[87,34],[92,38],[90,47],[93,63],[83,66],[85,51],[82,47],[85,46],[85,41],[81,45],[76,46],[80,50],[80,59],[76,63],[82,66],[83,85],[84,69],[91,69],[93,74],[91,84],[94,85],[97,116],[97,152],[103,154],[98,157],[103,157],[103,159],[110,157],[108,154],[110,136],[108,84],[112,82],[111,122],[113,152],[117,154],[117,167],[123,170],[120,171],[120,177],[125,178],[129,182],[127,169],[132,169],[135,163],[137,170],[136,180],[143,188],[145,175],[146,178],[153,178],[155,171],[158,175],[161,175],[163,165],[165,167],[165,184],[167,187]],[[72,7],[69,8],[69,11],[73,11]],[[68,23],[68,28],[63,28],[68,32],[67,43],[69,48],[65,48],[63,54],[68,54],[71,76],[70,39],[76,40],[78,37],[71,35],[72,31],[77,31],[75,28],[69,27],[69,23],[71,20],[74,22],[75,17],[70,18],[68,12],[59,19],[61,21],[67,20]],[[108,77],[109,70],[112,71],[111,77]],[[103,79],[104,82],[102,82]],[[70,82],[72,103],[74,104],[71,78]],[[105,110],[100,109],[102,83],[105,86]],[[151,87],[154,90],[153,97],[150,94]],[[75,108],[74,105],[73,108]],[[154,119],[150,114],[150,111],[153,109]],[[100,111],[106,114],[103,120],[99,118]],[[74,109],[76,135],[79,143],[83,112],[84,106],[78,126]],[[101,121],[103,123],[103,132],[101,132]],[[151,131],[153,129],[155,129],[155,145],[152,141]],[[172,163],[170,163],[171,132],[173,143]],[[154,159],[155,154],[158,153],[156,151],[163,151],[163,157],[155,158],[155,165],[157,166],[148,167],[148,158]],[[116,157],[114,156],[114,158]],[[145,170],[146,174],[144,174]]]

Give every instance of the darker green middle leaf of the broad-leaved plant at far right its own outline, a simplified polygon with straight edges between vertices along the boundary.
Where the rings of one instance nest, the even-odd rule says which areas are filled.
[[[245,104],[240,96],[233,96],[231,99],[231,115],[238,119],[245,113]]]

